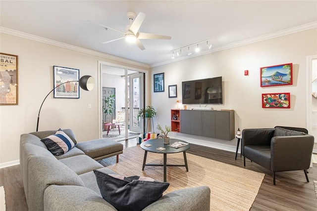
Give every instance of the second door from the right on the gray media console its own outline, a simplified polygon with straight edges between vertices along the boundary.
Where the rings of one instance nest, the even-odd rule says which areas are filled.
[[[203,111],[203,136],[215,137],[215,113],[214,111]]]

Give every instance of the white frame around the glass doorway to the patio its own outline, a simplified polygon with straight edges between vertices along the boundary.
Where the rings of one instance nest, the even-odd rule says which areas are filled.
[[[142,70],[142,69],[138,69],[138,68],[134,68],[134,67],[130,67],[130,66],[125,66],[125,65],[118,65],[118,64],[114,64],[114,63],[110,63],[110,62],[105,62],[105,61],[100,61],[98,60],[98,79],[97,79],[97,88],[98,88],[98,133],[99,133],[99,138],[103,137],[103,123],[102,123],[102,97],[103,97],[103,92],[102,92],[102,66],[106,65],[106,66],[112,66],[112,67],[117,67],[117,68],[122,68],[122,69],[129,69],[129,70],[133,70],[133,71],[138,71],[138,72],[142,72],[145,73],[145,86],[144,86],[144,94],[145,94],[145,105],[148,105],[149,103],[149,99],[150,99],[150,88],[149,88],[149,70]],[[125,73],[125,77],[127,78],[127,73]],[[125,99],[127,99],[128,94],[127,93],[127,83],[125,84]],[[128,103],[127,100],[125,102],[125,107],[128,108]],[[125,121],[126,123],[128,122],[128,115],[125,115]]]

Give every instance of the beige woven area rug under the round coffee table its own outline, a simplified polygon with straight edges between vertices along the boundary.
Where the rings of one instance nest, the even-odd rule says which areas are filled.
[[[235,167],[186,153],[188,169],[167,167],[167,182],[164,194],[183,188],[207,185],[211,189],[212,211],[250,210],[264,179],[264,173]],[[142,171],[144,150],[140,146],[126,148],[119,156],[119,163],[107,166],[124,176],[148,176],[163,181],[163,167],[146,166]],[[147,164],[162,164],[163,155],[148,153]],[[183,153],[168,154],[167,164],[184,164]]]

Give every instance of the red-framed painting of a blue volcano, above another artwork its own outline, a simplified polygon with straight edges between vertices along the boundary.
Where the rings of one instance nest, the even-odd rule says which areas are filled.
[[[293,64],[281,64],[260,68],[261,86],[292,85]]]

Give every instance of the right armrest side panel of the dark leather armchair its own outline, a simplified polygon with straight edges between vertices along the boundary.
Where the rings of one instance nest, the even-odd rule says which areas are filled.
[[[274,172],[309,169],[314,136],[274,136],[271,140],[271,170]]]

